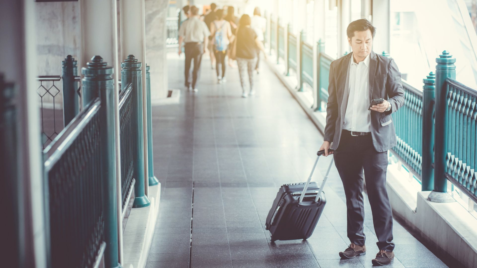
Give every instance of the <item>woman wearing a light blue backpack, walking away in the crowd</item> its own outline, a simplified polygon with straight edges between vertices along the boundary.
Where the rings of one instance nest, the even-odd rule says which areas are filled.
[[[215,15],[216,20],[210,23],[210,33],[216,59],[217,80],[218,83],[223,83],[227,81],[225,79],[225,57],[227,56],[228,44],[230,44],[232,38],[232,29],[230,23],[224,20],[224,10],[217,10]],[[220,75],[219,65],[222,65],[222,75]]]

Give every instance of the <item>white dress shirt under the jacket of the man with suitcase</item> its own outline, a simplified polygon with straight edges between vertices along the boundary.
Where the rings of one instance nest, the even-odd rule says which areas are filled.
[[[355,63],[351,55],[349,96],[343,125],[343,129],[349,131],[371,132],[371,111],[368,110],[370,55],[360,63]]]

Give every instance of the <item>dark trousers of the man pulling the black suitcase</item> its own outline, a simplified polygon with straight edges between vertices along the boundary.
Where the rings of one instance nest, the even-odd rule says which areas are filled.
[[[374,149],[371,135],[351,136],[343,131],[334,161],[346,195],[348,238],[360,246],[366,239],[363,232],[363,179],[366,179],[374,231],[378,237],[376,245],[379,249],[393,251],[393,213],[386,191],[387,152],[379,153]]]

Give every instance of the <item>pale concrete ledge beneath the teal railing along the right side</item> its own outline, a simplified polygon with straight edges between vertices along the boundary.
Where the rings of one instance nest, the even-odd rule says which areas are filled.
[[[314,112],[310,108],[311,103],[283,75],[283,70],[269,60],[266,62],[323,133],[326,112]],[[466,208],[458,202],[428,201],[430,191],[421,192],[420,185],[410,180],[397,165],[388,166],[386,186],[394,218],[417,239],[450,267],[477,267],[477,219]]]

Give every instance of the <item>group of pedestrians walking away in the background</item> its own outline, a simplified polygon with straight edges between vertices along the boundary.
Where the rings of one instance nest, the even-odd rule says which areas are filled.
[[[201,15],[196,6],[185,6],[183,11],[187,19],[179,27],[178,52],[180,55],[184,48],[187,90],[198,92],[202,56],[209,54],[218,83],[227,82],[226,65],[235,68],[234,61],[237,61],[242,97],[254,95],[253,77],[259,73],[260,54],[266,57],[263,46],[266,20],[261,17],[259,8],[255,8],[252,16],[243,14],[240,19],[235,15],[234,7],[221,9],[215,3]]]

